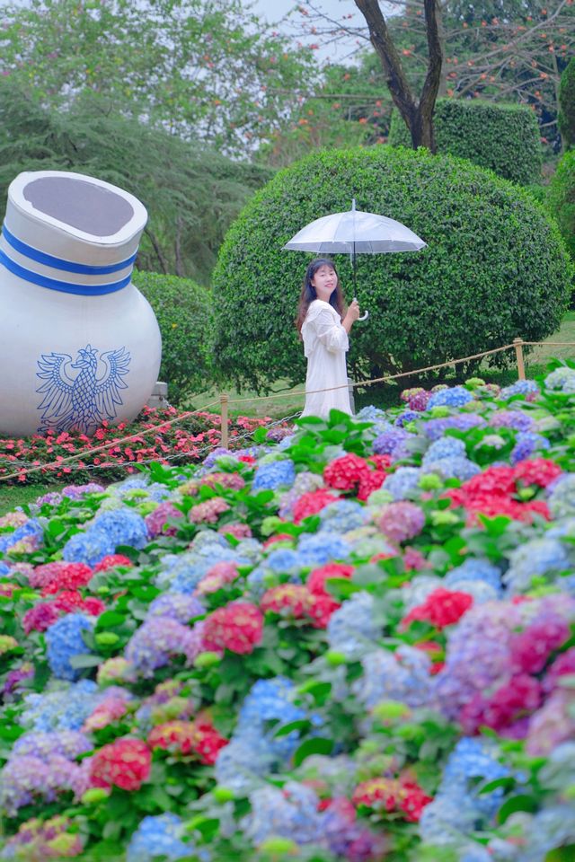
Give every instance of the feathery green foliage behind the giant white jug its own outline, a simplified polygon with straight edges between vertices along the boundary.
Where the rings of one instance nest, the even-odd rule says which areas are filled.
[[[2,211],[18,173],[45,170],[85,173],[136,195],[149,214],[138,266],[206,285],[229,224],[273,176],[124,117],[102,94],[87,92],[69,109],[49,110],[0,76]]]

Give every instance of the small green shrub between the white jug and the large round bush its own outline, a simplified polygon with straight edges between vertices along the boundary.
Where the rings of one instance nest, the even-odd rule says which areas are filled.
[[[160,379],[178,405],[210,384],[207,349],[211,294],[190,278],[134,271],[134,284],[154,309],[162,333]]]

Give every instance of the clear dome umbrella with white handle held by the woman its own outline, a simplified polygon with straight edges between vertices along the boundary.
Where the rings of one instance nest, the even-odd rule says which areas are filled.
[[[344,213],[316,218],[296,233],[283,248],[288,251],[314,251],[316,254],[349,254],[355,295],[358,254],[420,251],[425,246],[426,243],[416,233],[401,222],[396,222],[394,218],[356,209],[356,200],[353,198],[351,209]],[[365,321],[368,313],[359,320]]]

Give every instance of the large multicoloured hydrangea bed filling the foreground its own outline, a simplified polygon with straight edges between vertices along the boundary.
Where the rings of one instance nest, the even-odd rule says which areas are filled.
[[[575,858],[573,377],[1,518],[0,858]]]

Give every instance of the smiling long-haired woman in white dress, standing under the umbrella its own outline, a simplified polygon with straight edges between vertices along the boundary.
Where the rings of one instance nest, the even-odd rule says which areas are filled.
[[[307,359],[302,416],[326,419],[331,409],[351,414],[345,355],[349,330],[358,317],[356,299],[344,314],[340,279],[332,260],[312,260],[305,272],[296,320]],[[316,391],[326,389],[330,391]]]

